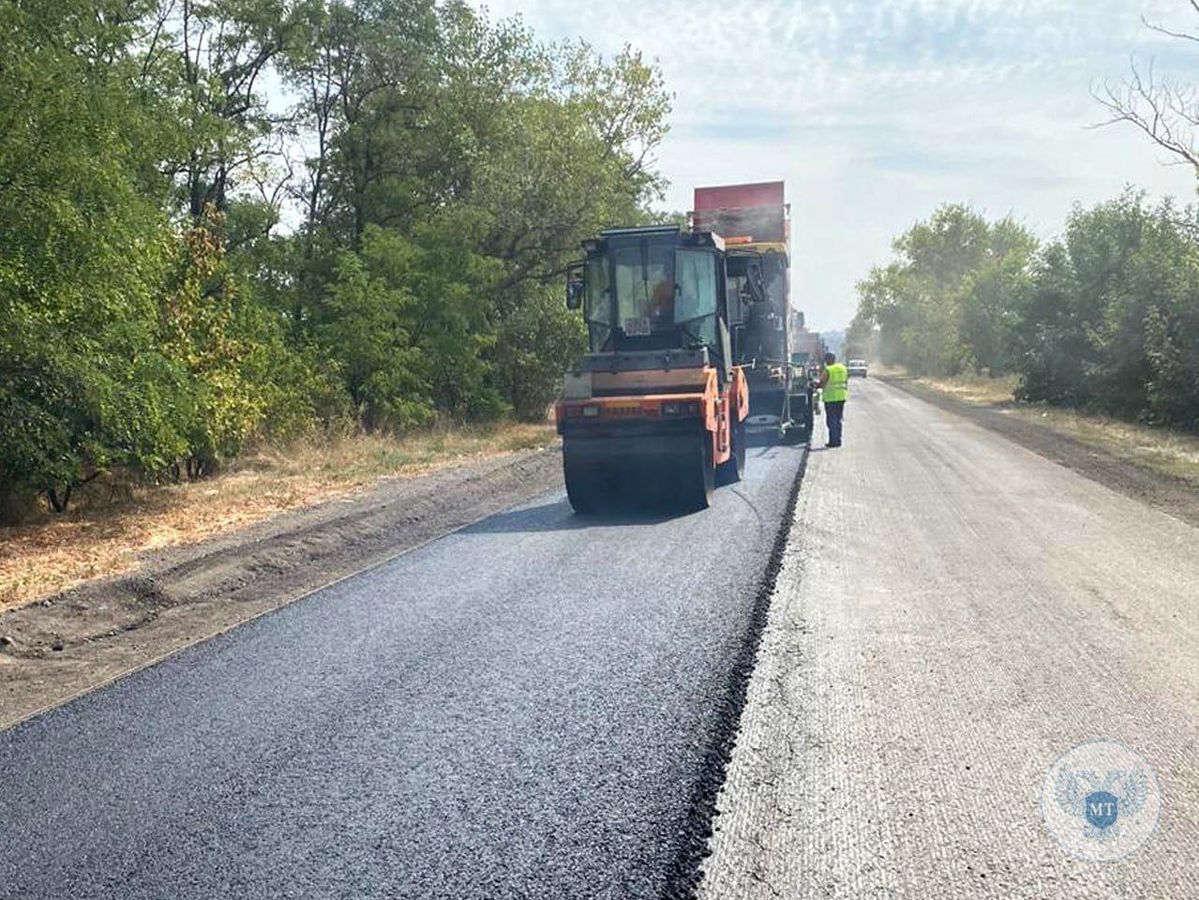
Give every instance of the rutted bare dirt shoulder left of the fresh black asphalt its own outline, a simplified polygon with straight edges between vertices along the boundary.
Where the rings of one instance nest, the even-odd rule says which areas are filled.
[[[0,729],[560,484],[556,447],[386,479],[0,614]]]

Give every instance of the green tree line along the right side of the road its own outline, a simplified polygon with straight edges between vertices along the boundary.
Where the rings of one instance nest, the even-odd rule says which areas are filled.
[[[1041,243],[946,205],[858,284],[850,342],[921,375],[1016,374],[1017,397],[1199,430],[1199,213],[1126,192]],[[875,332],[876,330],[876,332]]]

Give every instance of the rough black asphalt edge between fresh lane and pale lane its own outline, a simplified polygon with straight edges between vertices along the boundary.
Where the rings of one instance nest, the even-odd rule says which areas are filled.
[[[783,558],[790,542],[791,525],[795,521],[795,509],[800,500],[800,488],[808,469],[811,445],[805,447],[803,458],[795,473],[791,493],[783,511],[783,521],[775,534],[766,568],[758,580],[749,623],[746,627],[741,650],[737,652],[729,671],[724,696],[721,700],[721,712],[715,737],[704,755],[704,765],[699,780],[692,789],[687,820],[682,827],[681,840],[667,875],[661,900],[691,900],[697,896],[703,881],[703,863],[711,854],[712,825],[718,815],[717,801],[728,773],[733,750],[741,732],[741,713],[745,711],[749,694],[749,682],[758,664],[758,650],[761,645],[766,623],[770,620],[770,605],[775,599],[778,575],[783,569]]]

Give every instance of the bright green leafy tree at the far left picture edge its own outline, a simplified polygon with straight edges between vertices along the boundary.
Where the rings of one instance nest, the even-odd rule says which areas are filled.
[[[65,508],[112,466],[185,447],[157,343],[174,235],[146,197],[152,108],[127,89],[135,4],[0,6],[0,493]]]

